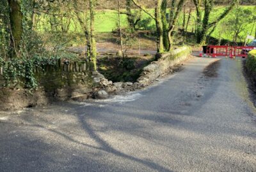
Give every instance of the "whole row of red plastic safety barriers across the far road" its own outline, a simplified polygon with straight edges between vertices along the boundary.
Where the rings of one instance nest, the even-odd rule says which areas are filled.
[[[256,49],[256,47],[244,47],[244,46],[228,46],[228,45],[209,45],[207,46],[206,55],[209,57],[248,57],[248,52]],[[201,56],[200,56],[201,57]]]

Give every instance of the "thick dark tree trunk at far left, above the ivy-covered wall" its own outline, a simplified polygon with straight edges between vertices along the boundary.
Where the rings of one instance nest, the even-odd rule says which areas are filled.
[[[19,57],[20,43],[22,39],[22,12],[20,11],[19,0],[8,0],[10,8],[10,57]]]

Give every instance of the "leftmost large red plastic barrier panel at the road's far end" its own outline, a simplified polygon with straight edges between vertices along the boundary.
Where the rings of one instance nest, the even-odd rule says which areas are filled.
[[[218,57],[218,56],[227,56],[228,55],[228,48],[227,45],[218,46],[218,45],[209,45],[207,47],[207,55],[211,57]]]

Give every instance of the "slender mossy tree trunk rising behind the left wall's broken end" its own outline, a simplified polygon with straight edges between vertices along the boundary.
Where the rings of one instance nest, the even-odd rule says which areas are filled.
[[[94,22],[95,22],[95,4],[96,0],[90,0],[90,36],[91,36],[91,61],[93,62],[93,70],[97,70],[97,50],[96,50],[96,41],[94,33]]]

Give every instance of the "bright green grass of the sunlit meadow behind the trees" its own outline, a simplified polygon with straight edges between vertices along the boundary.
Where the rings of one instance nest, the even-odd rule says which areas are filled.
[[[243,6],[244,9],[250,9],[252,11],[253,11],[253,7],[254,6]],[[212,10],[212,13],[211,13],[210,22],[213,21],[215,18],[219,17],[224,10],[225,10],[225,7],[223,6],[214,8],[214,10]],[[154,14],[154,10],[151,10],[151,13]],[[141,15],[142,15],[142,22],[143,21],[145,22],[145,20],[149,20],[149,22],[145,22],[145,24],[147,24],[147,28],[154,29],[154,26],[155,26],[154,20],[150,19],[150,17],[144,12],[141,12]],[[186,18],[188,18],[188,16],[186,16]],[[188,27],[189,32],[195,31],[195,18],[196,18],[196,13],[195,11],[193,11],[191,20],[189,22],[189,27]],[[121,15],[121,21],[122,21],[123,27],[128,25],[126,15]],[[183,15],[181,14],[178,22],[179,28],[182,27],[182,21],[183,21]],[[225,18],[223,19],[223,21],[225,21]],[[118,22],[117,11],[99,10],[95,14],[95,32],[111,32],[118,28],[117,22]],[[239,35],[241,38],[245,38],[248,32],[250,33],[252,31],[255,31],[255,29],[253,30],[253,27],[255,28],[256,25],[253,26],[253,22],[254,21],[252,21],[251,23],[244,24],[245,25],[244,31],[242,31],[241,34]],[[42,17],[40,19],[37,30],[40,32],[49,32],[51,31],[51,29],[49,28],[50,28],[50,25],[49,25],[49,22],[47,22],[47,15],[45,15],[45,17]],[[221,26],[221,24],[219,24],[218,27],[216,28],[216,31],[214,31],[211,36],[217,39],[221,37],[221,39],[228,39],[231,41],[232,35],[230,33],[223,32],[220,35],[220,31],[222,30],[223,30],[223,27]],[[76,22],[76,20],[75,21],[73,20],[71,22],[70,29],[68,30],[68,32],[72,34],[74,34],[74,32],[83,33],[80,25]]]

